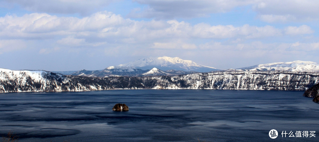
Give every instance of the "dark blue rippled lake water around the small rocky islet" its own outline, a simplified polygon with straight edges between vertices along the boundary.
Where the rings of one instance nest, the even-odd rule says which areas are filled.
[[[1,93],[0,134],[19,142],[319,141],[319,104],[303,91],[110,90]],[[125,103],[127,112],[112,111]],[[278,138],[271,139],[271,129]],[[292,131],[295,137],[282,138]],[[296,131],[316,137],[296,138]]]

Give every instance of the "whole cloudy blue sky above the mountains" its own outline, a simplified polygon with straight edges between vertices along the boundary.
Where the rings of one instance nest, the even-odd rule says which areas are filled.
[[[101,70],[144,57],[217,69],[319,62],[318,0],[0,0],[0,68]]]

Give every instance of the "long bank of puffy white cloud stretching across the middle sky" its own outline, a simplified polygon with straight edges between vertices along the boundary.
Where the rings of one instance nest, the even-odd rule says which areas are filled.
[[[282,35],[282,30],[273,26],[211,26],[205,23],[192,26],[176,20],[134,21],[107,11],[81,19],[51,16],[46,13],[31,13],[21,17],[6,15],[0,17],[0,25],[0,37],[5,38],[52,39],[65,36],[64,38],[85,39],[86,42],[109,43],[135,43],[170,38],[263,38]],[[291,34],[289,29],[291,27],[286,29],[287,34]],[[310,27],[304,25],[297,29],[308,31],[295,34],[308,34]]]

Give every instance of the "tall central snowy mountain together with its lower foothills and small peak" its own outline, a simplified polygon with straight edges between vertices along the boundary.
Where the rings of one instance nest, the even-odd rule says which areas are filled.
[[[64,75],[78,75],[85,77],[115,77],[115,76],[175,76],[198,72],[221,71],[213,67],[203,66],[190,60],[183,60],[179,57],[147,57],[136,61],[109,66],[101,71],[75,71],[58,72],[68,73]]]

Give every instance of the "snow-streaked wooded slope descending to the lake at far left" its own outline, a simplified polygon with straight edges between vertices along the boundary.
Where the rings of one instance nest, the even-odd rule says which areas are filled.
[[[61,92],[105,90],[92,79],[65,76],[49,71],[12,71],[0,69],[0,93],[6,92]]]

